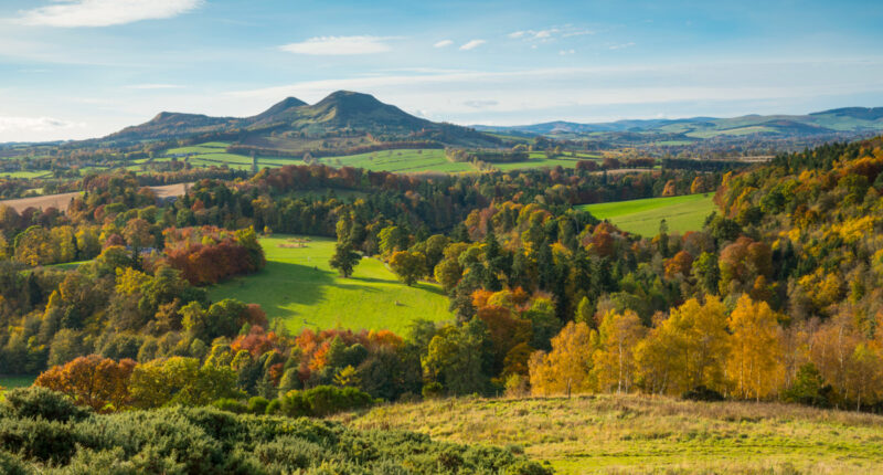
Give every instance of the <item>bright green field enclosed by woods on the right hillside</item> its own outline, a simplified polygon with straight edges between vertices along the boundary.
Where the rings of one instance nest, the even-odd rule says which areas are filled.
[[[579,208],[599,220],[609,220],[624,231],[655,236],[659,233],[659,223],[662,219],[666,220],[670,232],[684,233],[702,229],[705,218],[715,210],[712,198],[711,193],[684,194],[583,204]]]

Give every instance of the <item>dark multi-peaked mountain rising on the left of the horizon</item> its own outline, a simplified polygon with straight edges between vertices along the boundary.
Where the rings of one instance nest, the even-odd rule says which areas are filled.
[[[338,91],[316,104],[287,97],[251,117],[210,117],[163,112],[149,122],[94,141],[131,144],[145,140],[223,138],[240,145],[285,151],[315,148],[377,147],[390,141],[436,141],[443,145],[493,147],[499,139],[467,127],[415,117],[369,94]],[[334,137],[345,137],[338,144]],[[329,145],[330,142],[330,145]]]

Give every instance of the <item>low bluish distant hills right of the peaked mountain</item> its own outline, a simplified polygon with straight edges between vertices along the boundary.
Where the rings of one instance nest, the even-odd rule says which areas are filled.
[[[691,139],[717,136],[781,135],[813,136],[883,130],[883,107],[845,107],[808,115],[747,115],[732,118],[693,117],[682,119],[617,120],[599,124],[550,122],[524,126],[474,126],[497,134],[585,136],[603,133],[656,133]]]

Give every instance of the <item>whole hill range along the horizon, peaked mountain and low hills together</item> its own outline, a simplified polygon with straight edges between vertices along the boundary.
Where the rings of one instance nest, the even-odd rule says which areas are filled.
[[[805,146],[881,130],[883,107],[849,107],[795,116],[464,127],[413,116],[368,94],[338,91],[316,104],[288,97],[251,117],[162,112],[145,124],[67,146],[137,149],[150,142],[163,142],[168,147],[170,142],[217,140],[231,144],[227,151],[241,155],[318,158],[392,148],[509,148],[535,136],[595,144],[588,148],[680,146],[714,138],[725,139],[727,144],[786,140],[790,146]]]

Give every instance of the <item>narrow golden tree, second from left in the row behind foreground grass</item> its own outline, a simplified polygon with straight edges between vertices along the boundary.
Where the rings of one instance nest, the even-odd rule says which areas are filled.
[[[608,312],[598,328],[598,349],[593,357],[593,373],[598,390],[629,392],[635,381],[635,347],[647,329],[632,310]]]

